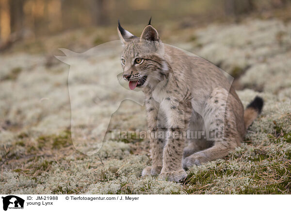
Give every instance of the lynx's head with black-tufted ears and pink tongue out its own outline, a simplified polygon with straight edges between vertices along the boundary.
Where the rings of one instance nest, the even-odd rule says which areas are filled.
[[[124,45],[121,54],[123,78],[129,81],[129,88],[132,90],[158,83],[166,75],[167,63],[163,59],[163,44],[150,21],[140,37],[123,29],[118,21],[117,31]]]

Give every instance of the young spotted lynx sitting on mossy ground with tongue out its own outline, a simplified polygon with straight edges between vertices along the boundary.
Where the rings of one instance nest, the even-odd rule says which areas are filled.
[[[184,169],[226,157],[240,146],[246,129],[262,109],[260,97],[243,111],[238,95],[219,68],[163,44],[150,21],[140,38],[119,22],[117,29],[124,44],[123,77],[130,89],[138,87],[145,93],[150,135],[165,130],[172,135],[166,139],[151,136],[152,166],[146,167],[142,176],[160,175],[179,182],[187,176]],[[202,135],[206,137],[177,136],[189,131],[205,132]],[[216,135],[214,139],[210,132]]]

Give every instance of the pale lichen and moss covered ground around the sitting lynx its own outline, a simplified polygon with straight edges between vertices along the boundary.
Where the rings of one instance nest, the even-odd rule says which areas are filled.
[[[38,54],[12,52],[13,57],[1,57],[5,65],[0,72],[0,98],[4,100],[0,102],[0,193],[291,194],[290,29],[290,22],[275,19],[177,32],[185,35],[178,46],[238,77],[238,88],[244,88],[238,91],[244,106],[256,95],[265,101],[241,147],[224,159],[191,167],[181,184],[140,177],[151,163],[146,139],[106,137],[97,154],[77,151],[68,130],[68,67]],[[47,43],[62,47],[66,35]],[[92,42],[87,41],[92,45],[105,39],[99,34],[90,37]],[[114,57],[107,62],[118,65]],[[90,106],[83,95],[80,102]],[[144,107],[123,102],[110,126],[146,129],[145,114]]]

